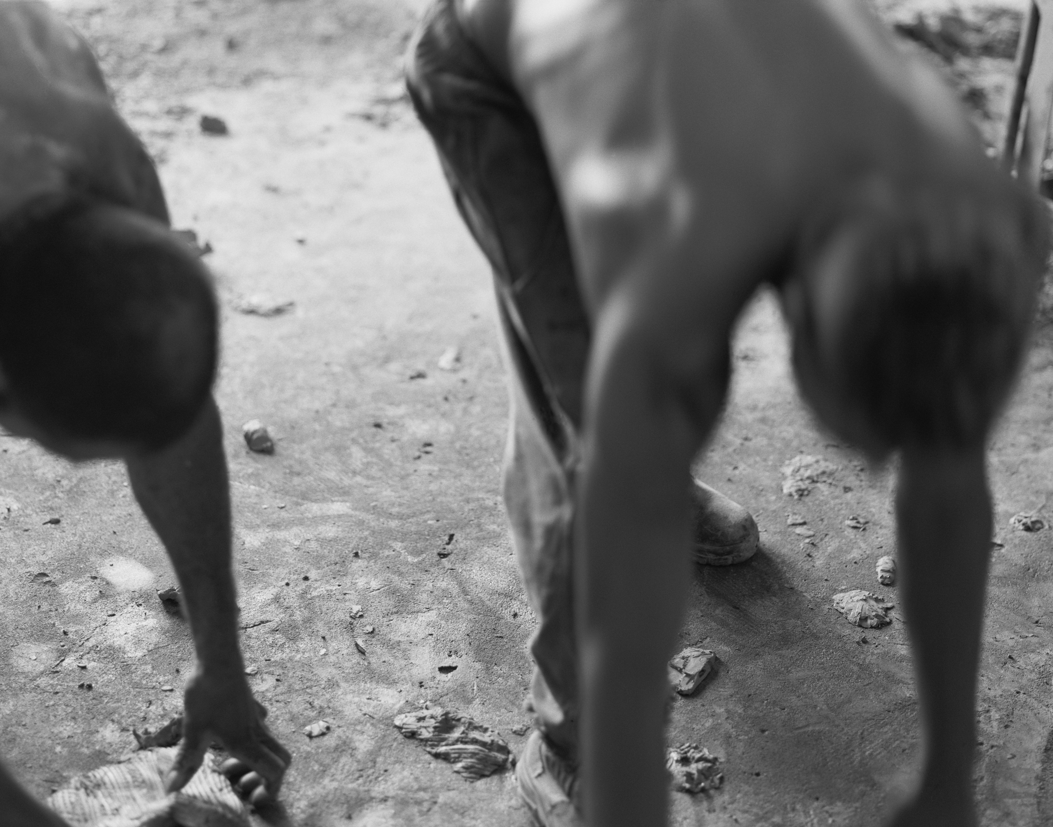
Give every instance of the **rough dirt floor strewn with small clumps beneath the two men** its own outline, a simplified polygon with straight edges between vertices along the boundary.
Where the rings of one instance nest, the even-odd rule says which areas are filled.
[[[506,401],[490,278],[398,83],[421,3],[61,5],[156,157],[175,224],[214,248],[242,645],[294,754],[287,821],[525,827],[510,772],[466,782],[392,725],[431,702],[518,752],[534,627],[499,499]],[[881,4],[900,22],[920,5],[947,6]],[[941,63],[963,94],[982,90],[992,143],[1011,69],[1005,55]],[[202,134],[201,115],[229,135]],[[236,310],[253,296],[295,305],[273,318]],[[451,347],[460,362],[441,369]],[[675,702],[669,739],[708,747],[726,782],[673,794],[675,823],[877,825],[917,758],[906,629],[896,610],[883,629],[852,626],[831,597],[865,588],[895,601],[874,573],[895,549],[891,477],[816,429],[769,295],[744,315],[734,354],[699,473],[751,508],[762,549],[695,573],[682,640],[720,666]],[[1002,546],[977,708],[984,825],[1053,822],[1053,533],[1009,526],[1020,511],[1053,512],[1051,396],[1044,320],[991,449]],[[274,456],[245,449],[240,426],[254,418],[276,436]],[[122,467],[74,466],[5,437],[0,449],[0,751],[45,796],[132,749],[133,727],[176,713],[193,651],[156,597],[172,570]],[[799,453],[836,470],[797,501],[780,469]],[[869,521],[862,530],[845,525],[852,516]],[[319,719],[333,730],[309,740]]]

